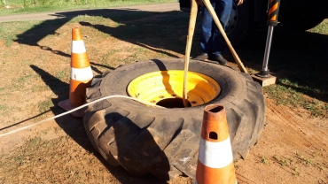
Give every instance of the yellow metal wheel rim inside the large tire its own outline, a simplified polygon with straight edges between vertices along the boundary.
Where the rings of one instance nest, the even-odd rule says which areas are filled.
[[[166,108],[184,108],[184,71],[145,73],[129,82],[131,97]],[[208,103],[220,94],[220,85],[201,73],[188,72],[187,101],[191,107]]]

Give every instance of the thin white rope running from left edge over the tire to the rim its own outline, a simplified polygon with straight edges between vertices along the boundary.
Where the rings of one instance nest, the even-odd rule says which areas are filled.
[[[43,122],[48,121],[48,120],[51,120],[51,119],[57,119],[57,118],[62,117],[62,116],[64,116],[64,115],[66,115],[66,114],[69,114],[69,113],[71,113],[71,112],[73,112],[73,111],[77,111],[77,110],[79,110],[79,109],[82,109],[83,107],[86,107],[86,106],[88,106],[88,105],[90,105],[90,104],[98,103],[98,102],[100,102],[100,101],[102,101],[102,100],[109,99],[109,98],[113,98],[113,97],[128,98],[128,99],[130,99],[130,100],[135,100],[135,101],[137,101],[137,102],[139,102],[139,103],[144,103],[144,104],[148,104],[148,105],[151,105],[151,106],[154,106],[154,107],[164,108],[164,107],[159,106],[159,105],[157,105],[157,104],[144,102],[144,101],[142,101],[142,100],[139,100],[139,99],[137,99],[137,98],[133,98],[133,97],[129,97],[129,96],[105,96],[105,97],[99,98],[99,99],[97,99],[97,100],[95,100],[95,101],[92,101],[92,102],[90,102],[90,103],[85,103],[85,104],[83,104],[83,105],[81,105],[81,106],[79,106],[79,107],[76,107],[75,109],[73,109],[73,110],[71,110],[71,111],[66,111],[66,112],[64,112],[64,113],[61,113],[61,114],[59,114],[59,115],[57,115],[57,116],[54,116],[54,117],[51,117],[51,118],[49,118],[49,119],[44,119],[44,120],[42,120],[42,121],[40,121],[40,122],[37,122],[37,123],[35,123],[35,124],[29,125],[29,126],[23,126],[23,127],[20,127],[20,128],[18,128],[18,129],[16,129],[16,130],[12,130],[12,131],[10,131],[10,132],[4,133],[4,134],[0,134],[0,137],[4,137],[4,136],[6,136],[6,135],[8,135],[8,134],[14,134],[14,133],[17,133],[17,132],[19,132],[20,130],[25,130],[25,129],[27,129],[27,128],[29,128],[29,127],[32,127],[32,126],[37,126],[37,125],[42,124]]]

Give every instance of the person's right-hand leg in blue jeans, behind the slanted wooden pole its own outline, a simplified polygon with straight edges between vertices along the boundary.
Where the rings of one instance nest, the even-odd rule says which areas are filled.
[[[232,0],[216,0],[215,1],[215,12],[220,22],[225,29],[230,19],[230,12],[232,10]],[[215,24],[215,23],[213,23]],[[226,49],[226,42],[223,39],[223,35],[220,30],[215,26],[213,34],[213,54],[215,56],[222,55]]]

